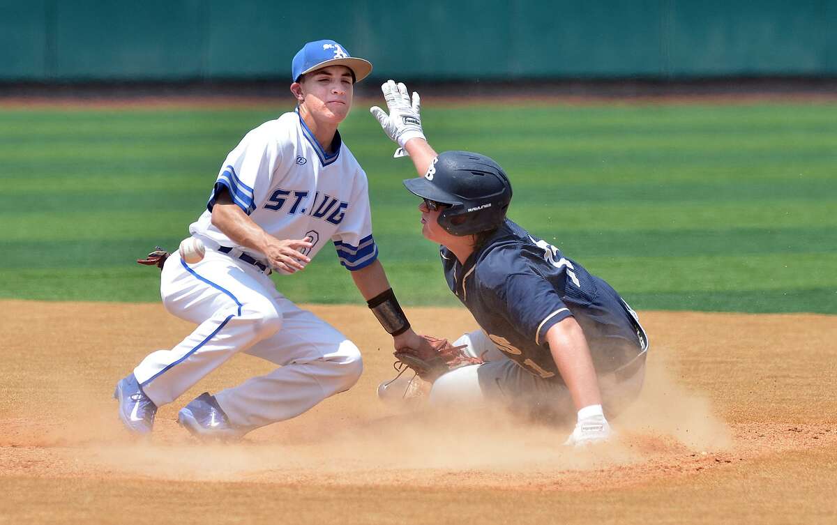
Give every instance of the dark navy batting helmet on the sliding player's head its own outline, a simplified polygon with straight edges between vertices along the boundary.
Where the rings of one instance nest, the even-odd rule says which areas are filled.
[[[452,235],[472,235],[499,227],[511,202],[511,183],[495,161],[479,153],[445,151],[424,177],[408,179],[413,194],[449,206],[439,226]]]

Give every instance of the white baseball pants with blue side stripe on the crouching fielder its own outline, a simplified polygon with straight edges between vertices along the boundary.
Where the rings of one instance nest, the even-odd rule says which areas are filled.
[[[237,352],[280,365],[215,394],[229,421],[241,428],[300,415],[348,390],[361,375],[355,344],[291,303],[259,268],[233,255],[208,248],[200,263],[187,264],[172,254],[162,270],[160,293],[168,312],[198,328],[174,348],[149,354],[134,370],[157,406],[176,400]]]

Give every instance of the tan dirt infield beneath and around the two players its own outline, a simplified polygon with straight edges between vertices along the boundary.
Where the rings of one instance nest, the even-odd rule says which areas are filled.
[[[574,451],[566,429],[508,415],[383,405],[388,336],[352,306],[311,307],[364,352],[352,390],[243,443],[198,444],[180,406],[270,370],[236,356],[133,441],[113,386],[190,326],[157,304],[0,307],[0,523],[837,521],[834,316],[640,313],[644,393],[618,441]],[[439,335],[475,328],[460,308],[408,313]]]

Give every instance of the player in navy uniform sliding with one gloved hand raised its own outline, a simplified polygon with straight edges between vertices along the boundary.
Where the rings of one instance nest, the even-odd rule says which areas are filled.
[[[613,416],[639,395],[648,339],[636,313],[603,279],[506,218],[511,184],[490,158],[437,155],[424,138],[419,97],[383,85],[389,115],[372,114],[421,175],[422,234],[441,245],[450,290],[480,330],[454,344],[485,359],[435,380],[431,403],[499,401],[531,415],[577,416],[567,444],[611,435]],[[406,137],[406,139],[405,139]]]

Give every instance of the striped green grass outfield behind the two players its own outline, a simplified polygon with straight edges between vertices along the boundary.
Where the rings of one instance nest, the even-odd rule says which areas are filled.
[[[206,204],[227,152],[286,107],[0,110],[0,297],[159,300],[156,268]],[[511,176],[510,217],[639,309],[837,313],[837,104],[434,107],[437,150]],[[406,304],[453,304],[412,163],[357,104],[381,260]],[[275,277],[302,303],[360,303],[330,247]]]

